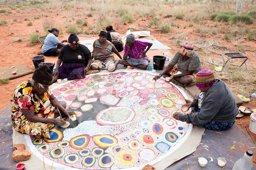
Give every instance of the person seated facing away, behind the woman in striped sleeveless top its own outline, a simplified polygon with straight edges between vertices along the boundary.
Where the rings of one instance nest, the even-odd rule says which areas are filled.
[[[109,40],[115,47],[118,52],[121,52],[124,50],[123,40],[118,32],[116,32],[112,25],[108,25],[106,27],[107,33],[107,40]]]

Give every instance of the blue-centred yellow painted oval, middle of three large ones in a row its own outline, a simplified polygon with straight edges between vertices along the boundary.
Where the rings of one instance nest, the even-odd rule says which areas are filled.
[[[82,149],[88,145],[90,141],[89,135],[80,135],[70,139],[69,144],[74,149]]]

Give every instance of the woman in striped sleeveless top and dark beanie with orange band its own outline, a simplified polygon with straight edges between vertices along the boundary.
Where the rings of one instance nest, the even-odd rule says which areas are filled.
[[[93,43],[94,61],[91,64],[91,70],[108,70],[109,72],[116,70],[118,61],[114,60],[112,52],[122,59],[116,47],[107,40],[107,31],[101,29],[99,39]]]

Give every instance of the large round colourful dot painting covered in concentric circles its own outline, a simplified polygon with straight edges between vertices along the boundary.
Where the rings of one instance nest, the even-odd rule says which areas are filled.
[[[161,161],[187,139],[192,125],[172,118],[187,114],[181,111],[185,93],[153,78],[150,72],[116,71],[51,89],[76,120],[63,118],[67,123],[54,126],[50,139],[27,135],[30,149],[71,170],[139,170]]]

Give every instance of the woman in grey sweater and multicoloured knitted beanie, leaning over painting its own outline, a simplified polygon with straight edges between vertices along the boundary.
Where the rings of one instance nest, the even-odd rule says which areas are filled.
[[[193,113],[173,114],[173,118],[210,130],[227,130],[233,126],[239,111],[229,87],[221,79],[215,79],[210,70],[199,71],[194,82],[201,92],[193,102],[187,100],[185,104],[187,110],[195,107]]]

